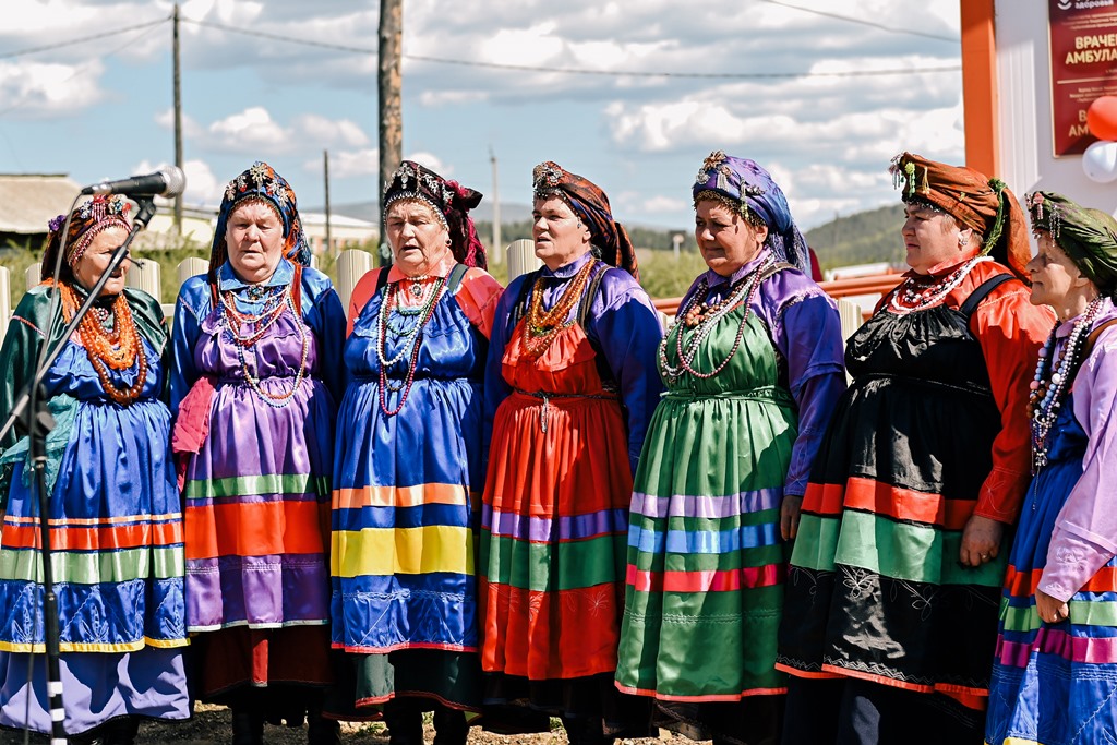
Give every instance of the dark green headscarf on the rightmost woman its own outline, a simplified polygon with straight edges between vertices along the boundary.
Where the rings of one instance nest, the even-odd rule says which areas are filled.
[[[1117,220],[1053,191],[1028,197],[1032,230],[1044,230],[1105,295],[1117,290]]]

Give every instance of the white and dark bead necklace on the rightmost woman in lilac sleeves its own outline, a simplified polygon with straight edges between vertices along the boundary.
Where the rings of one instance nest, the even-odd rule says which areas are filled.
[[[1098,297],[1086,306],[1086,311],[1075,321],[1075,326],[1067,337],[1067,344],[1053,360],[1056,328],[1051,329],[1047,344],[1040,350],[1039,362],[1035,364],[1035,378],[1029,388],[1028,417],[1032,424],[1032,470],[1039,471],[1048,464],[1048,451],[1051,443],[1048,437],[1059,418],[1059,409],[1067,398],[1071,376],[1081,363],[1082,345],[1086,343],[1094,319],[1101,309],[1101,298]]]

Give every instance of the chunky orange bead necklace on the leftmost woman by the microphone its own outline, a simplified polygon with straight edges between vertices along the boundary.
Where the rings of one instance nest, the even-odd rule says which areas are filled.
[[[69,319],[77,313],[80,303],[74,288],[67,284],[61,285],[61,298],[64,317]],[[111,328],[106,325],[112,323]],[[82,318],[77,327],[82,346],[85,347],[89,364],[93,365],[101,386],[105,393],[122,407],[126,407],[137,398],[143,391],[144,382],[147,380],[147,355],[143,351],[143,340],[136,328],[135,318],[132,317],[132,308],[128,306],[124,295],[117,295],[113,302],[112,321],[108,312],[102,308],[87,313]],[[113,384],[109,376],[112,370],[128,370],[139,360],[139,370],[132,385],[118,389]]]

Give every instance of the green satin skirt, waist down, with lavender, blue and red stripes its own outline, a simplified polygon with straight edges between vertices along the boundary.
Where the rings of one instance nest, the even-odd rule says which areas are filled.
[[[780,389],[670,393],[636,477],[617,686],[666,701],[781,694],[783,479],[795,414]]]

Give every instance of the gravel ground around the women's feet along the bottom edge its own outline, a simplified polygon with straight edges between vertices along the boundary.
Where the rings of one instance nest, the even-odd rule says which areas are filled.
[[[435,729],[429,724],[424,732],[426,741],[435,738]],[[143,745],[166,743],[169,745],[226,745],[232,738],[229,709],[223,706],[198,704],[194,716],[187,722],[144,722],[140,725],[140,736],[136,742]],[[0,735],[0,745],[19,745],[23,742],[22,733],[4,732]],[[32,735],[30,742],[35,745],[46,745],[45,735]],[[264,742],[267,745],[304,745],[306,728],[273,727],[264,728]],[[343,745],[388,745],[388,728],[380,722],[342,723]],[[469,730],[467,745],[566,745],[566,733],[560,726],[556,730],[534,735],[497,735],[485,732],[480,727]],[[618,745],[694,745],[680,735],[660,730],[660,737],[647,739],[623,739]]]

